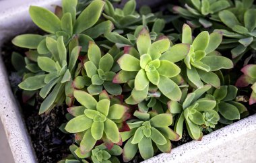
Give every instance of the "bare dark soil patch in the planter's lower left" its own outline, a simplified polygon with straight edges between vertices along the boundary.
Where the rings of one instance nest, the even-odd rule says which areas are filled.
[[[72,134],[63,133],[59,126],[66,122],[65,108],[54,108],[48,115],[38,115],[40,102],[36,107],[23,107],[24,118],[38,162],[57,162],[69,154]],[[25,109],[26,108],[26,109]]]

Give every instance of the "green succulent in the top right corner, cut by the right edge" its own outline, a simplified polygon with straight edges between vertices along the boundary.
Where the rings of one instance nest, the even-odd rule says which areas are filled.
[[[232,58],[240,59],[247,50],[256,50],[256,9],[252,6],[251,0],[235,1],[235,7],[218,13],[222,23],[226,25],[218,30],[225,36],[220,48],[232,48]]]

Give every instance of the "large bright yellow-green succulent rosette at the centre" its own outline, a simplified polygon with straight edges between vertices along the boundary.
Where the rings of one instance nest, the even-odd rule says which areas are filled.
[[[150,85],[155,85],[163,95],[171,100],[181,99],[181,90],[170,78],[179,75],[181,69],[174,64],[182,60],[187,52],[187,45],[177,44],[170,48],[170,40],[162,38],[151,44],[150,34],[144,28],[137,38],[137,50],[131,48],[117,60],[121,71],[113,79],[114,83],[127,83],[134,79],[131,96],[125,100],[129,104],[137,104],[148,95]],[[181,48],[185,50],[179,51]],[[177,58],[175,55],[179,55]]]

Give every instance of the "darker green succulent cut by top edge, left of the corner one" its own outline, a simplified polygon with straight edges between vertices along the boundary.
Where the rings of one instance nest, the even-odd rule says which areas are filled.
[[[172,10],[184,17],[193,28],[199,28],[201,25],[203,28],[210,28],[212,21],[219,20],[218,13],[231,5],[229,0],[186,0],[185,8],[174,6]]]

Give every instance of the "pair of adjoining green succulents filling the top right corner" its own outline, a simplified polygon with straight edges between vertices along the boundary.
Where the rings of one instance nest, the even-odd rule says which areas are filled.
[[[235,62],[240,60],[248,50],[255,50],[255,19],[253,0],[243,1],[206,1],[185,0],[182,6],[172,10],[187,20],[193,28],[211,28],[222,32],[224,40],[219,49],[230,50]],[[247,56],[249,57],[249,56]]]

